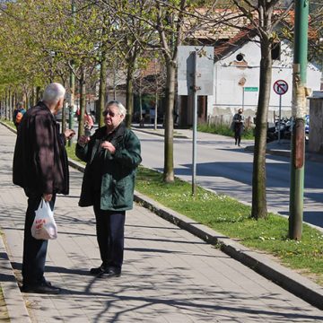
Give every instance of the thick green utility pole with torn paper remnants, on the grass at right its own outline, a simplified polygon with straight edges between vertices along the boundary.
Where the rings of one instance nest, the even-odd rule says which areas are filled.
[[[292,71],[292,140],[289,237],[301,240],[304,160],[306,70],[308,64],[309,0],[295,1],[294,54]]]

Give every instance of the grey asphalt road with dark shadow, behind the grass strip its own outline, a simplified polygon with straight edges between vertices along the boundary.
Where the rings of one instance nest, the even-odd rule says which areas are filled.
[[[189,130],[188,130],[189,131]],[[182,131],[180,131],[182,132]],[[163,137],[135,132],[142,143],[143,165],[163,170]],[[233,139],[221,135],[198,133],[196,181],[205,188],[251,204],[253,153]],[[181,179],[191,181],[192,140],[174,139],[174,171]],[[323,172],[319,162],[305,163],[304,212],[307,223],[323,228]],[[289,214],[290,160],[267,155],[266,197],[268,211]]]

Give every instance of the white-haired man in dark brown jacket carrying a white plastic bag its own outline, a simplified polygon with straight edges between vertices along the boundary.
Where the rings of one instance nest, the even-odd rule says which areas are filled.
[[[43,99],[25,113],[18,127],[13,155],[13,184],[24,189],[28,196],[26,211],[23,259],[22,292],[59,293],[60,289],[44,277],[48,240],[31,236],[31,225],[41,199],[54,209],[57,193],[67,195],[69,174],[65,152],[66,139],[74,135],[67,129],[59,134],[54,115],[62,109],[65,88],[50,83]]]

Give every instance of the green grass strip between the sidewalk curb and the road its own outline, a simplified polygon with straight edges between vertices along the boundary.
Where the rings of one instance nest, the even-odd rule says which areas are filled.
[[[280,215],[269,214],[266,220],[254,220],[250,217],[250,207],[231,197],[197,188],[194,198],[190,184],[179,179],[165,184],[161,173],[142,167],[137,173],[135,189],[251,249],[274,255],[284,265],[323,285],[322,232],[304,224],[301,241],[289,240],[288,220]]]

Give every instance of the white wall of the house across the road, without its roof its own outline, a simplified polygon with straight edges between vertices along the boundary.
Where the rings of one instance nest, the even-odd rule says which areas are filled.
[[[243,60],[237,60],[241,54]],[[256,42],[249,41],[237,48],[230,56],[214,64],[214,95],[208,96],[208,116],[231,116],[243,107],[247,117],[254,117],[258,105],[258,91],[247,92],[246,88],[259,90],[260,48]],[[287,43],[281,44],[281,59],[273,62],[271,98],[268,121],[273,121],[279,112],[279,95],[273,90],[277,80],[288,83],[288,91],[282,95],[282,116],[292,114],[292,50]],[[307,86],[312,90],[320,88],[320,72],[308,66]]]

